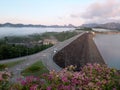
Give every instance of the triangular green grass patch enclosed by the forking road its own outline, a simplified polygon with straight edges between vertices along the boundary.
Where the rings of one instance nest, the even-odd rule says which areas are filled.
[[[43,63],[41,61],[37,61],[25,70],[23,70],[21,74],[23,76],[40,76],[48,72],[48,69],[43,65]]]

